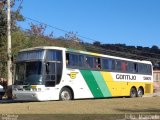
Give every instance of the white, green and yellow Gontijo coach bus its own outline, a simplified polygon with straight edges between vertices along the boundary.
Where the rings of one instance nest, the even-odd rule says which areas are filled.
[[[43,46],[21,50],[15,65],[15,100],[134,98],[153,93],[150,61]]]

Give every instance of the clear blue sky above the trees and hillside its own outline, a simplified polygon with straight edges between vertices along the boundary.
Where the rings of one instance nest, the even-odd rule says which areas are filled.
[[[160,0],[23,0],[22,7],[25,17],[90,38],[84,42],[160,47]],[[18,25],[26,29],[31,22],[38,24]],[[65,35],[47,27],[51,31]]]

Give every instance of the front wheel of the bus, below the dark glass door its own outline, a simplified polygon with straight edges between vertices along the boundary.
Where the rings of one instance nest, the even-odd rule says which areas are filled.
[[[61,101],[68,101],[68,100],[72,100],[73,99],[73,95],[72,95],[72,91],[71,89],[64,87],[62,88],[60,95],[59,95],[59,99]]]

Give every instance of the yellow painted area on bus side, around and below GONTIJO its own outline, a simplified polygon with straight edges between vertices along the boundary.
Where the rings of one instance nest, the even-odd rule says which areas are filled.
[[[144,94],[151,94],[153,93],[153,84],[150,82],[121,82],[121,81],[114,81],[112,74],[110,72],[101,72],[108,89],[112,96],[129,96],[130,89],[135,86],[136,89],[140,86],[144,88]]]

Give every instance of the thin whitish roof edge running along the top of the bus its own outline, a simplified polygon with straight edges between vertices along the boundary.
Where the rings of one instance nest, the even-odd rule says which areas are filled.
[[[32,48],[22,49],[22,50],[20,50],[20,52],[31,51],[31,50],[39,50],[39,49],[56,49],[56,50],[64,50],[64,51],[68,51],[68,52],[75,52],[75,53],[93,55],[93,56],[97,56],[97,57],[108,57],[108,58],[114,58],[114,59],[124,60],[124,61],[131,61],[131,62],[139,62],[139,63],[152,64],[151,61],[146,61],[146,60],[128,59],[128,58],[123,58],[123,57],[116,57],[116,56],[112,56],[112,55],[107,55],[107,54],[100,54],[100,53],[87,52],[87,51],[75,50],[75,49],[64,48],[64,47],[55,47],[55,46],[39,46],[39,47],[32,47]]]

